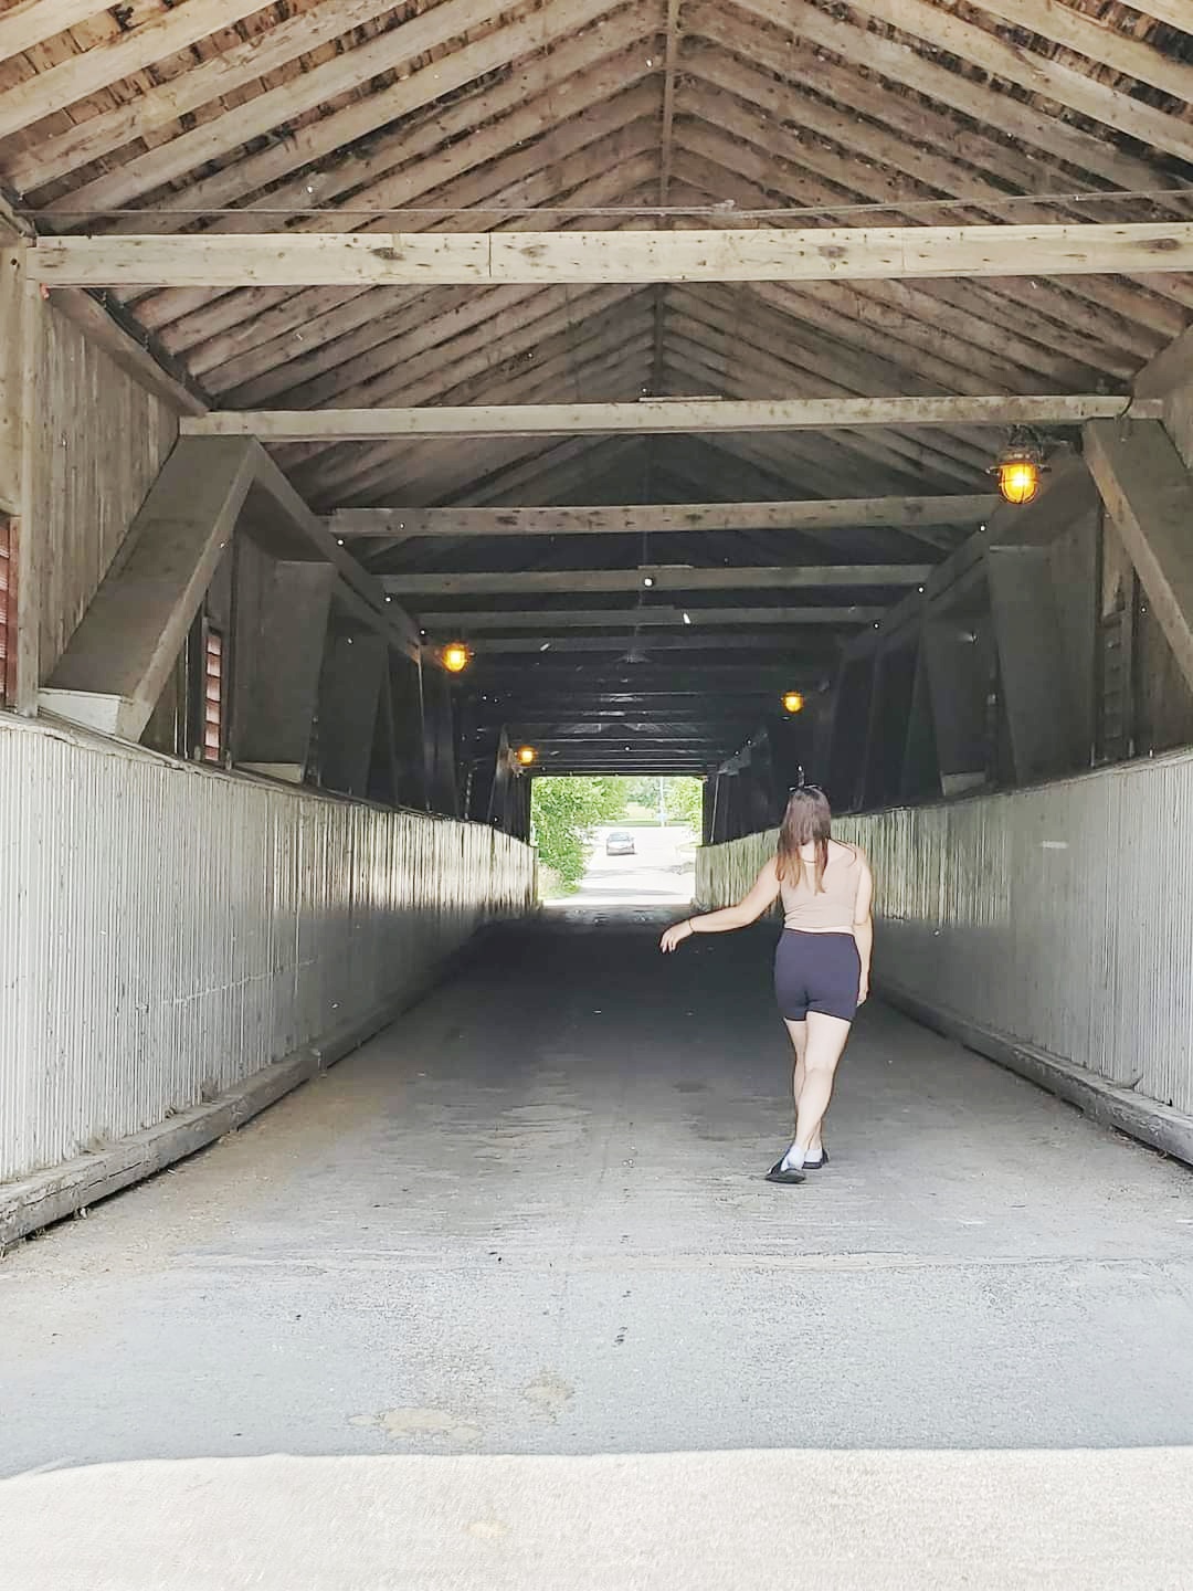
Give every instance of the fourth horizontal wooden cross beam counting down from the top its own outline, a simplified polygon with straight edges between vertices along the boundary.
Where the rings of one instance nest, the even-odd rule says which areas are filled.
[[[692,568],[644,563],[636,570],[499,570],[495,573],[385,574],[394,597],[474,595],[498,592],[698,592],[814,590],[819,587],[923,585],[931,563],[789,563],[775,568]],[[616,622],[616,620],[614,620]]]

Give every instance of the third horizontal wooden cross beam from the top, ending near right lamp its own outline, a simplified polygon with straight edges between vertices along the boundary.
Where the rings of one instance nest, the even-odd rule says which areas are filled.
[[[806,503],[625,503],[601,508],[340,508],[345,541],[393,536],[620,536],[671,530],[918,530],[973,527],[997,496],[829,498]]]

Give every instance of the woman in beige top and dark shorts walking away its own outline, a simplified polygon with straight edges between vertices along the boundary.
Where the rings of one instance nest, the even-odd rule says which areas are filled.
[[[795,1048],[795,1139],[767,1173],[770,1182],[803,1182],[805,1171],[827,1165],[821,1123],[849,1025],[870,991],[870,866],[856,846],[830,838],[830,826],[824,791],[814,784],[792,791],[778,851],[744,901],[676,923],[659,947],[671,951],[692,934],[748,928],[783,897],[775,998]]]

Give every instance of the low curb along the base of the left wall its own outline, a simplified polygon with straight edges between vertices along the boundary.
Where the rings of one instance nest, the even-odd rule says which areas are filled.
[[[401,994],[374,1006],[367,1015],[334,1028],[264,1071],[245,1077],[208,1104],[180,1111],[156,1126],[119,1139],[110,1149],[80,1155],[65,1165],[35,1171],[19,1182],[0,1187],[0,1255],[17,1239],[87,1209],[111,1193],[151,1177],[175,1160],[185,1160],[216,1138],[234,1133],[261,1111],[358,1050],[458,971],[487,928],[488,924],[479,928],[460,950],[447,956],[414,988],[402,990]]]

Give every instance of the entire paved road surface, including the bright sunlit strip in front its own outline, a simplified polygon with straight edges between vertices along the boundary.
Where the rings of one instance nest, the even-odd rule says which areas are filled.
[[[670,915],[0,1265],[6,1583],[1190,1585],[1193,1176],[872,1007],[771,1187],[773,931]]]

